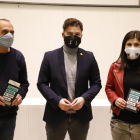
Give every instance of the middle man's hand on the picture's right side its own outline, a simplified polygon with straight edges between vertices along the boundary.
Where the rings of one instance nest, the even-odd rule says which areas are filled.
[[[79,110],[83,107],[84,103],[85,103],[84,98],[78,97],[72,102],[71,108],[73,108],[73,110]]]

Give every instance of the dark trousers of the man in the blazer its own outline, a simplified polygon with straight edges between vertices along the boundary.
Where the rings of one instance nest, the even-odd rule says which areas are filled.
[[[67,115],[61,123],[52,125],[46,123],[47,140],[64,140],[68,131],[70,140],[86,140],[89,122],[80,122],[74,115]]]

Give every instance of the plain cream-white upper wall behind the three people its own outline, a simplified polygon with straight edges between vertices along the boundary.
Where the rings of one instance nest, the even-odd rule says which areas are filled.
[[[80,47],[92,51],[99,64],[103,88],[98,99],[106,99],[108,70],[119,56],[124,35],[130,30],[140,30],[139,8],[0,4],[0,18],[9,19],[15,28],[13,47],[26,58],[28,98],[42,98],[36,83],[44,52],[63,45],[62,25],[70,17],[83,22]]]

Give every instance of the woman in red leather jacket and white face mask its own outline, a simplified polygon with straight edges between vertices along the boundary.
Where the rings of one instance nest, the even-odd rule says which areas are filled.
[[[140,111],[126,109],[130,88],[140,91],[140,31],[128,32],[122,50],[109,70],[106,94],[111,103],[111,133],[113,140],[140,139]],[[140,108],[140,102],[136,104]]]

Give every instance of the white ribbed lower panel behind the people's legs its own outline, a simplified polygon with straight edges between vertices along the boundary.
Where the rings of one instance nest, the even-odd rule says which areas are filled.
[[[42,121],[44,105],[21,105],[17,115],[14,140],[46,140],[45,122]],[[93,106],[87,140],[112,140],[109,106]],[[70,140],[68,134],[65,140]]]

